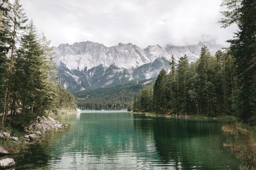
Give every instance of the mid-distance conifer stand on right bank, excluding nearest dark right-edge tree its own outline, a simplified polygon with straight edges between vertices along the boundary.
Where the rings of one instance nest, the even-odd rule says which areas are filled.
[[[171,112],[175,114],[230,113],[234,63],[230,54],[222,51],[211,56],[207,47],[201,49],[197,62],[188,63],[187,56],[178,61],[171,72],[161,70],[154,87],[143,89],[133,101],[139,112]]]

